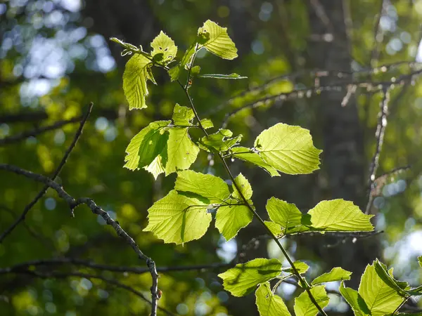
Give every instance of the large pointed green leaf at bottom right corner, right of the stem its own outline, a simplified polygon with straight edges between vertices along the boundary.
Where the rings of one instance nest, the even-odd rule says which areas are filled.
[[[372,316],[394,312],[404,301],[396,289],[378,276],[374,265],[367,265],[359,284],[358,292],[364,299]]]

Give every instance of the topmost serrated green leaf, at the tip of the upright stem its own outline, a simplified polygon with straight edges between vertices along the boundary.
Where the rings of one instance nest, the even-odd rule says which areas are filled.
[[[226,27],[220,27],[217,23],[207,20],[203,27],[198,29],[198,50],[205,47],[207,51],[224,59],[234,59],[237,48],[227,34]]]

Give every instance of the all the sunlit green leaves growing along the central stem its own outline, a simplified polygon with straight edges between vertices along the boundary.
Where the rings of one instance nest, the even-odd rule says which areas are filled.
[[[319,169],[319,154],[309,131],[300,126],[276,124],[257,136],[254,147],[242,147],[241,135],[234,136],[228,129],[208,133],[214,124],[210,119],[200,119],[188,94],[192,77],[213,77],[217,79],[239,79],[238,74],[200,74],[200,67],[193,66],[196,53],[205,48],[220,58],[237,57],[236,46],[227,34],[226,28],[207,20],[198,29],[196,41],[188,48],[176,65],[177,46],[166,34],[160,32],[151,43],[151,53],[132,44],[112,39],[124,47],[122,55],[132,55],[127,62],[123,88],[130,109],[146,107],[148,89],[146,83],[155,84],[152,67],[161,67],[184,89],[190,107],[176,104],[171,120],[154,121],[132,138],[125,157],[126,168],[146,169],[155,178],[177,173],[174,190],[158,200],[148,209],[148,226],[145,231],[153,232],[164,242],[183,244],[199,239],[207,231],[212,214],[215,226],[226,240],[235,237],[239,230],[257,217],[270,235],[277,240],[286,235],[305,232],[370,232],[373,230],[371,216],[365,215],[352,202],[343,199],[322,201],[307,213],[302,213],[294,204],[276,197],[267,202],[269,220],[264,221],[255,212],[252,204],[252,187],[239,174],[231,176],[224,159],[240,159],[259,166],[271,176],[281,173],[306,174]],[[186,84],[179,77],[186,70]],[[189,129],[201,129],[202,138],[192,139]],[[211,174],[188,170],[196,161],[200,150],[212,152],[222,159],[229,176],[231,187],[222,179]],[[298,316],[314,316],[323,312],[328,305],[325,283],[340,281],[340,294],[350,304],[355,315],[388,315],[397,312],[410,296],[420,295],[420,289],[410,289],[409,284],[398,282],[392,277],[392,270],[374,261],[362,275],[359,290],[345,287],[351,272],[333,268],[308,283],[303,274],[306,263],[292,262],[279,244],[291,267],[283,268],[276,259],[257,258],[236,265],[219,277],[224,289],[234,296],[244,296],[255,291],[260,315],[290,315],[283,299],[275,294],[283,280],[298,279],[298,287],[305,291],[295,298],[294,310]],[[271,280],[276,284],[271,287]],[[324,312],[323,312],[324,313]]]

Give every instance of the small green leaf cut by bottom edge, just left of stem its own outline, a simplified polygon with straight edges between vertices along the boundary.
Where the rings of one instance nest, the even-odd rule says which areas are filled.
[[[269,282],[261,284],[255,292],[255,296],[260,316],[290,316],[283,299],[272,293]]]

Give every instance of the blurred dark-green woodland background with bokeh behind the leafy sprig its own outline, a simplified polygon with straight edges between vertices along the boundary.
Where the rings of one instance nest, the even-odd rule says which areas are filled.
[[[167,74],[154,69],[158,86],[150,86],[148,108],[129,111],[122,91],[127,57],[108,41],[117,37],[150,50],[163,30],[179,47],[178,57],[207,19],[228,27],[238,47],[236,60],[200,51],[203,73],[236,72],[248,79],[196,79],[191,93],[201,117],[220,126],[227,112],[265,96],[293,93],[238,112],[229,129],[251,145],[260,131],[279,121],[311,130],[324,150],[321,171],[307,176],[271,178],[243,162],[231,162],[254,189],[263,213],[271,196],[312,208],[321,199],[344,197],[365,209],[369,165],[382,93],[371,81],[390,89],[388,126],[377,176],[411,164],[411,169],[377,181],[371,213],[377,231],[366,239],[301,236],[284,239],[295,259],[312,269],[309,277],[342,265],[362,273],[378,256],[395,268],[395,276],[421,283],[416,256],[422,255],[422,58],[421,0],[11,0],[0,1],[0,162],[50,175],[77,130],[77,121],[20,141],[5,142],[24,131],[79,117],[94,102],[84,133],[58,181],[74,197],[91,197],[117,219],[158,267],[244,261],[257,256],[282,258],[259,225],[224,242],[210,228],[205,237],[184,246],[162,244],[142,232],[147,209],[174,185],[174,174],[154,181],[146,171],[123,169],[129,140],[150,121],[167,118],[175,103],[186,105],[183,91]],[[402,62],[397,64],[397,62]],[[394,64],[394,65],[391,65]],[[390,65],[383,67],[383,65]],[[311,70],[343,71],[312,72]],[[402,85],[390,81],[414,72]],[[293,75],[289,75],[293,74]],[[353,91],[354,84],[358,84]],[[366,83],[366,84],[365,84]],[[318,86],[338,88],[318,91]],[[313,88],[315,87],[316,88]],[[377,85],[375,85],[375,90]],[[326,91],[328,90],[328,91]],[[351,98],[345,107],[344,97]],[[283,95],[285,96],[285,95]],[[193,136],[196,136],[193,134]],[[198,134],[199,136],[199,134]],[[218,162],[200,153],[193,169],[226,177]],[[10,173],[0,176],[0,232],[18,218],[41,185]],[[244,249],[246,246],[246,250]],[[242,255],[242,256],[241,256]],[[0,244],[0,268],[47,258],[80,258],[120,266],[144,266],[115,232],[85,206],[70,217],[55,192],[46,195]],[[352,268],[351,268],[352,267]],[[146,273],[98,272],[73,265],[41,267],[47,271],[91,272],[113,277],[148,296]],[[253,296],[229,298],[217,273],[222,269],[162,272],[160,306],[177,315],[256,315]],[[359,275],[351,285],[356,287]],[[338,289],[338,284],[328,288]],[[292,307],[298,290],[282,284],[279,293]],[[411,302],[417,308],[417,302]],[[37,279],[0,275],[1,315],[148,315],[138,296],[98,279]],[[330,315],[348,315],[345,302],[331,295]]]

